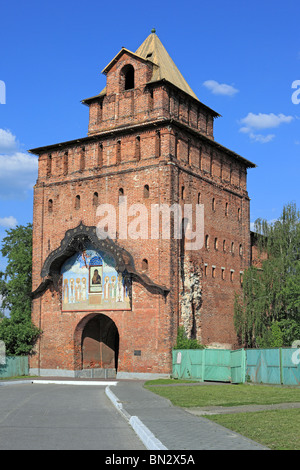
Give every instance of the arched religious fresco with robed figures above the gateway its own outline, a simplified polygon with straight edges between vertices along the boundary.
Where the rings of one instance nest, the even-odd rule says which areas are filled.
[[[85,249],[62,266],[62,310],[130,310],[131,281],[114,258]]]

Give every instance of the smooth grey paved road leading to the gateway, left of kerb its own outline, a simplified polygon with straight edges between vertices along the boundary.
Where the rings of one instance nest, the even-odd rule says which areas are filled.
[[[103,386],[0,387],[0,450],[145,450]]]

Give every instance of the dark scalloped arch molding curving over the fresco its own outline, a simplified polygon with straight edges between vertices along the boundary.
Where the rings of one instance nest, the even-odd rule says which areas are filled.
[[[116,262],[117,271],[120,273],[126,271],[132,280],[141,283],[150,292],[159,293],[165,297],[168,295],[168,288],[154,283],[146,274],[136,270],[133,257],[128,251],[110,238],[98,238],[95,226],[86,226],[80,222],[77,227],[66,231],[60,246],[46,258],[41,271],[43,280],[38,288],[32,292],[32,297],[36,298],[38,295],[43,294],[51,285],[54,286],[56,291],[59,291],[63,263],[75,253],[84,250],[88,245],[92,245],[95,250],[98,249],[110,254]]]

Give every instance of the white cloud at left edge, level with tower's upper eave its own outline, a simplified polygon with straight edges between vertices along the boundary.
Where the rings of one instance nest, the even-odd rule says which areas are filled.
[[[19,150],[16,137],[0,129],[0,199],[23,199],[37,179],[38,159]]]

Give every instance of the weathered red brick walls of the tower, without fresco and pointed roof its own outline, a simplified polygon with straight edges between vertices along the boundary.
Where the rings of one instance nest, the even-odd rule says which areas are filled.
[[[104,69],[105,90],[83,100],[88,135],[32,150],[39,155],[32,318],[43,334],[31,368],[41,374],[81,370],[83,331],[103,314],[119,334],[118,372],[170,373],[180,324],[205,345],[236,346],[234,293],[250,263],[246,180],[254,165],[214,141],[217,113],[168,80],[151,81],[157,67],[122,49]],[[137,273],[131,310],[62,311],[61,279],[43,279],[45,262],[68,230],[97,226],[99,205],[112,204],[117,216],[124,211],[120,196],[149,214],[147,237],[124,239],[118,227],[114,240]],[[187,251],[174,237],[151,238],[151,205],[175,203],[204,205],[201,249]],[[128,227],[132,220],[128,215]]]

